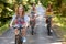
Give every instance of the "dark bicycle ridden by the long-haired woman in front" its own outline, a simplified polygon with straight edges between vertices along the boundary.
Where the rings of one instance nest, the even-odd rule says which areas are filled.
[[[12,26],[13,29],[16,29],[16,26]],[[22,32],[21,30],[23,29],[24,26],[22,25],[19,25],[18,30],[19,30],[19,34],[15,35],[15,44],[23,44],[23,37],[22,37]]]

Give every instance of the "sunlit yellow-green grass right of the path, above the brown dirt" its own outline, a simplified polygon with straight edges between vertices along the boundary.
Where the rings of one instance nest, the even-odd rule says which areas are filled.
[[[54,21],[57,23],[58,26],[61,26],[63,30],[66,30],[66,18],[56,16],[54,18]]]

